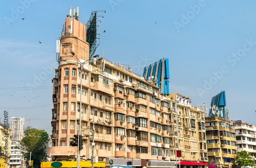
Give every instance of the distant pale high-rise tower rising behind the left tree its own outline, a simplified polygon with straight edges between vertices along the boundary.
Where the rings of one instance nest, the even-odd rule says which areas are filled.
[[[24,124],[25,118],[22,117],[12,117],[11,119],[11,135],[13,136],[13,141],[22,140],[24,135]]]

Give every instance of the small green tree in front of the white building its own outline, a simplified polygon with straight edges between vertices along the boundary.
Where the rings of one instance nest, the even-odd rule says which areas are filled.
[[[239,167],[246,167],[246,166],[254,166],[254,160],[250,156],[251,153],[247,153],[246,151],[237,152],[236,163]]]

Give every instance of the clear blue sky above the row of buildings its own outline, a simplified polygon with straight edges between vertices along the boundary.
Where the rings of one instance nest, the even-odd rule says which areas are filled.
[[[211,98],[225,90],[229,119],[255,124],[255,5],[252,0],[4,1],[1,121],[8,111],[9,122],[12,116],[25,117],[25,127],[51,132],[56,40],[70,6],[79,6],[84,23],[92,11],[106,11],[98,13],[104,18],[98,17],[95,54],[101,57],[104,50],[106,59],[141,75],[144,66],[168,58],[171,93],[209,109]]]

